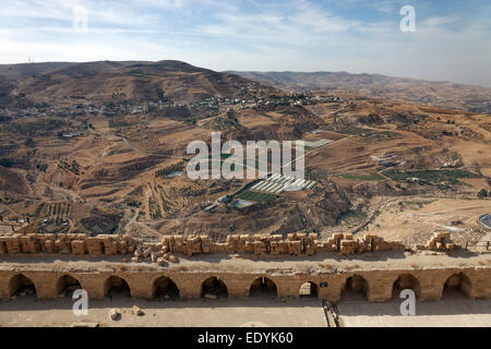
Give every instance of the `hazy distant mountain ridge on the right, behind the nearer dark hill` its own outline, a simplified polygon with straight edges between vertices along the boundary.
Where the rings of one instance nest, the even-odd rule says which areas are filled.
[[[286,91],[345,91],[384,99],[491,115],[491,88],[346,72],[236,72],[230,73]]]

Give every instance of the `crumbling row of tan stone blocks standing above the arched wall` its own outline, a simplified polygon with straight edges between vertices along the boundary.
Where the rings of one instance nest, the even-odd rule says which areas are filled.
[[[438,244],[440,251],[454,244]],[[89,256],[134,253],[136,260],[148,257],[158,260],[175,253],[193,254],[254,254],[254,255],[314,255],[322,252],[335,252],[343,255],[379,251],[408,250],[398,241],[384,241],[375,236],[364,236],[361,240],[350,233],[335,233],[326,241],[319,240],[316,233],[289,233],[284,240],[280,234],[232,234],[226,242],[213,242],[207,236],[166,236],[160,243],[139,243],[130,234],[87,237],[79,233],[59,233],[57,236],[33,232],[0,236],[0,255],[9,254],[73,254]],[[152,254],[155,253],[155,254]],[[156,261],[154,261],[156,262]]]

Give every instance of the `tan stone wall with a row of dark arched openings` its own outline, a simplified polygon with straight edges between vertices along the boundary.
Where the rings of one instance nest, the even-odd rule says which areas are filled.
[[[202,297],[203,285],[209,278],[217,278],[227,289],[228,297],[248,297],[258,279],[267,278],[275,286],[277,297],[299,297],[306,282],[318,288],[316,297],[338,302],[343,291],[351,287],[366,293],[369,301],[384,302],[393,298],[400,288],[411,288],[422,301],[439,300],[447,287],[456,287],[472,299],[491,299],[491,268],[426,268],[388,270],[349,270],[336,273],[304,274],[291,270],[228,273],[224,270],[187,272],[179,268],[130,270],[94,269],[77,270],[57,267],[47,270],[35,264],[20,267],[0,265],[0,299],[9,299],[22,282],[29,280],[40,299],[55,299],[63,289],[63,279],[70,277],[80,284],[93,299],[104,298],[115,280],[124,280],[134,298],[156,298],[160,285],[173,285],[178,297],[196,299]],[[24,280],[24,281],[23,281]],[[164,281],[164,282],[163,282]],[[356,286],[358,285],[358,286]]]

